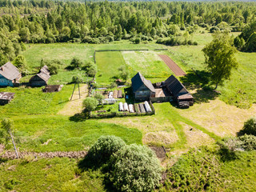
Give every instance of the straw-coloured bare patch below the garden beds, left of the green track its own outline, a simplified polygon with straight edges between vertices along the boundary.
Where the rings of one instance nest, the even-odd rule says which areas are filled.
[[[170,146],[177,142],[178,135],[173,125],[166,119],[153,116],[139,118],[112,118],[103,119],[102,122],[110,122],[136,128],[142,131],[142,142],[145,145]]]

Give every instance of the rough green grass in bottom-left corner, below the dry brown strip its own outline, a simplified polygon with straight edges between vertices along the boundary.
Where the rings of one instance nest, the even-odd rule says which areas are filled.
[[[0,166],[0,191],[105,191],[99,171],[80,172],[70,158],[10,160]]]

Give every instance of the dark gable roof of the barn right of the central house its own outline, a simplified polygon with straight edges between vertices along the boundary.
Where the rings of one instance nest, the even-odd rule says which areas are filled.
[[[180,91],[183,89],[186,91],[186,94],[189,94],[189,92],[186,90],[186,87],[183,86],[182,83],[174,77],[174,75],[171,75],[169,78],[166,79],[166,88],[172,94],[174,94],[175,97],[178,97]]]

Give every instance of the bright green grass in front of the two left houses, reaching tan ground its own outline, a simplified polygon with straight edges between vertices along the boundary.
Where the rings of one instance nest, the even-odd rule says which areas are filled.
[[[0,88],[0,92],[15,93],[14,99],[6,106],[0,106],[1,116],[22,114],[56,114],[69,101],[73,85],[66,85],[57,93],[43,93],[38,88]]]

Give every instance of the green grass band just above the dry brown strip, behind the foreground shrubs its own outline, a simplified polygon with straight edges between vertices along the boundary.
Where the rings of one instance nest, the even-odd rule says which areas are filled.
[[[139,130],[112,123],[98,123],[97,120],[71,122],[67,117],[54,115],[30,115],[13,120],[14,135],[21,151],[88,150],[102,135],[116,135],[127,144],[142,144]]]

